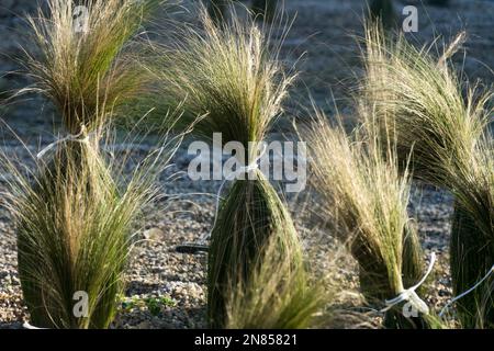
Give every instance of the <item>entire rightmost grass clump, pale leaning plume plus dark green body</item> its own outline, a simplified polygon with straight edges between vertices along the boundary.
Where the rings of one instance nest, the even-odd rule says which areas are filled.
[[[482,278],[494,263],[492,135],[493,92],[462,84],[450,57],[464,42],[459,34],[440,57],[415,48],[403,35],[386,37],[367,29],[363,87],[366,109],[377,111],[382,133],[397,140],[403,165],[412,154],[414,176],[456,195],[451,231],[454,294]],[[485,286],[489,282],[485,283]],[[479,288],[458,302],[460,319],[474,327]],[[492,291],[490,292],[492,301]],[[492,325],[494,307],[484,310]]]

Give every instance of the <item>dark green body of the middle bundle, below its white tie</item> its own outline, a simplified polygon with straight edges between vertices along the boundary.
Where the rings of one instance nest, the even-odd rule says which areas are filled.
[[[226,325],[226,306],[236,286],[249,285],[252,262],[266,245],[278,241],[280,257],[302,264],[293,223],[272,185],[265,179],[236,181],[223,202],[211,237],[207,315],[212,328]]]

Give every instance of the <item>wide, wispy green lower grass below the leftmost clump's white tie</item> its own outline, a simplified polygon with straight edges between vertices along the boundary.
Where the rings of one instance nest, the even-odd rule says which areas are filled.
[[[124,293],[135,218],[156,196],[158,168],[149,162],[124,180],[115,174],[120,163],[89,144],[60,148],[55,167],[37,165],[27,173],[1,155],[13,179],[2,199],[16,226],[19,275],[33,326],[109,327]],[[78,292],[87,294],[87,304]]]

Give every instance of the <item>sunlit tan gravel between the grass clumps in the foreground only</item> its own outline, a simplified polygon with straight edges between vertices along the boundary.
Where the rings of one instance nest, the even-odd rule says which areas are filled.
[[[15,154],[21,154],[20,148],[15,148]],[[187,165],[187,158],[182,148],[164,179],[186,170],[179,166]],[[122,301],[123,306],[132,306],[122,308],[114,322],[115,328],[205,327],[206,254],[179,253],[176,247],[194,241],[210,230],[215,205],[211,194],[215,194],[217,188],[218,182],[190,182],[187,178],[164,181],[166,193],[182,195],[179,200],[157,202],[145,211],[146,216],[139,223],[143,229],[138,235],[143,241],[133,252],[126,275],[128,285]],[[188,195],[198,192],[210,195]],[[333,237],[318,228],[321,223],[311,211],[301,211],[301,206],[310,208],[312,205],[307,196],[305,192],[301,193],[297,199],[290,200],[290,205],[314,271],[324,275],[330,272],[333,284],[339,282],[341,292],[356,294],[356,263],[340,252]],[[426,185],[414,186],[411,214],[417,218],[425,256],[428,258],[431,251],[438,253],[435,291],[428,295],[429,305],[437,309],[451,296],[447,247],[451,203],[452,199],[447,193]],[[3,210],[0,211],[0,328],[21,328],[22,321],[29,317],[16,274],[14,228]],[[335,262],[337,257],[338,264]],[[166,298],[169,303],[161,304],[158,312],[151,312],[144,303],[149,298]],[[361,301],[350,294],[338,302],[341,308],[351,309]]]

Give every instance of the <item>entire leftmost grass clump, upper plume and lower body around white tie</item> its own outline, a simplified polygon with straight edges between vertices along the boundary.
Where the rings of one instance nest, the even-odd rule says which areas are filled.
[[[106,328],[115,314],[131,224],[153,196],[150,184],[161,163],[115,179],[100,139],[119,106],[147,81],[131,43],[157,2],[76,7],[49,0],[48,14],[40,10],[27,19],[34,48],[25,50],[23,64],[33,86],[21,93],[47,98],[68,134],[38,154],[36,170],[27,176],[2,158],[15,174],[7,206],[18,228],[21,285],[35,327]],[[75,298],[82,298],[80,314]]]

